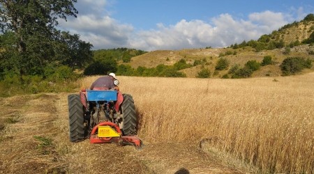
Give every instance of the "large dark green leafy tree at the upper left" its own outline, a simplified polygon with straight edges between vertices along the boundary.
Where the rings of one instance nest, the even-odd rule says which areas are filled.
[[[91,44],[57,29],[59,19],[76,17],[76,2],[0,0],[1,71],[41,74],[50,63],[80,68],[91,60]]]

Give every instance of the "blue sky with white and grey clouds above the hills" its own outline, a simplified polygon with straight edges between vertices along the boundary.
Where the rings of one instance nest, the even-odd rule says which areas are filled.
[[[227,47],[314,13],[313,0],[77,0],[59,28],[93,49]]]

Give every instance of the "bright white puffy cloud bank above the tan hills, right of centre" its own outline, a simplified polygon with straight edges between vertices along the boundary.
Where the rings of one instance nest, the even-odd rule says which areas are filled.
[[[267,22],[267,17],[273,17],[274,22]],[[220,15],[211,21],[213,26],[201,20],[188,22],[184,19],[174,26],[158,24],[157,30],[136,33],[137,39],[131,40],[130,45],[145,50],[226,47],[235,42],[257,39],[287,23],[281,13],[270,12],[254,13],[247,21],[235,20],[229,14]]]

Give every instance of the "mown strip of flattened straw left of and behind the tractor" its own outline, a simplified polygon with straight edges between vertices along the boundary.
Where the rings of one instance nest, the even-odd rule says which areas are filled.
[[[68,140],[67,93],[0,98],[0,173],[241,173],[195,144]]]

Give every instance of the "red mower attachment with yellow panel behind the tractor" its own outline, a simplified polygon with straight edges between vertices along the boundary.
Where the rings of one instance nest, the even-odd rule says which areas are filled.
[[[137,136],[122,136],[121,129],[113,122],[100,122],[96,125],[91,131],[90,142],[135,145],[136,148],[142,146],[142,141]]]

